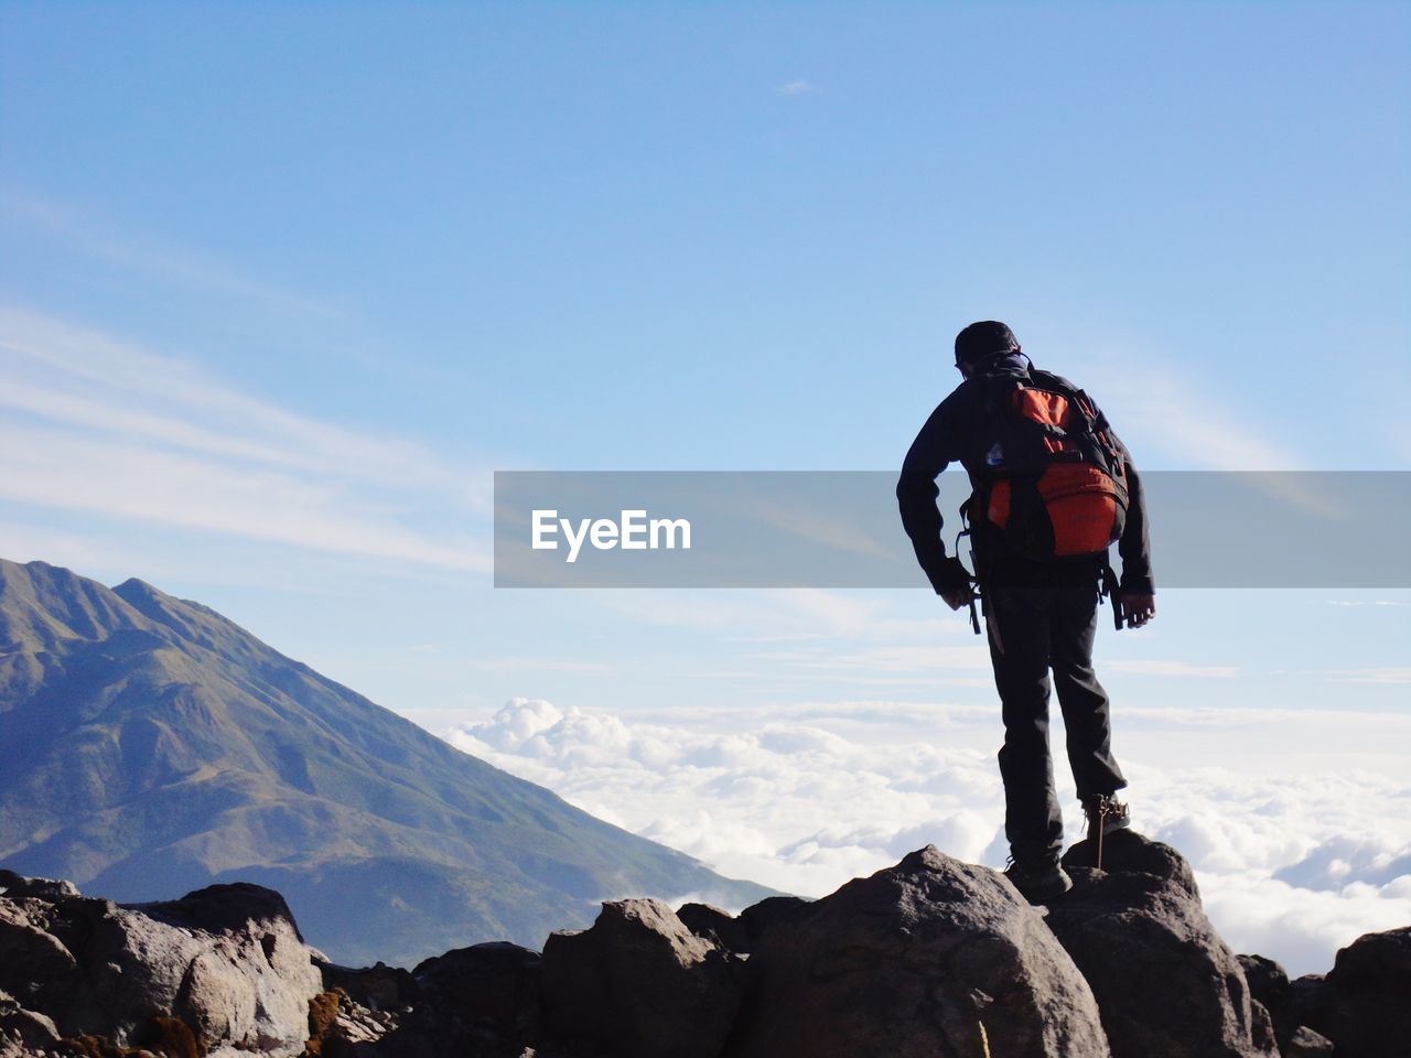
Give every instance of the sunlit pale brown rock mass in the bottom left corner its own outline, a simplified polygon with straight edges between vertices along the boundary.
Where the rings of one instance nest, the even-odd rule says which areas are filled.
[[[212,886],[120,907],[63,887],[6,889],[0,989],[61,1035],[140,1047],[157,1033],[176,1048],[179,1031],[154,1023],[175,1019],[200,1051],[303,1050],[322,982],[278,893]]]

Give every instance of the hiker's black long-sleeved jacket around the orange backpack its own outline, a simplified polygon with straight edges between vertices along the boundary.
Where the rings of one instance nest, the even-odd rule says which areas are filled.
[[[902,475],[896,482],[896,499],[902,511],[902,525],[912,537],[916,560],[921,564],[937,594],[957,587],[952,567],[945,561],[945,545],[941,540],[941,512],[935,506],[940,488],[935,478],[951,463],[962,464],[971,471],[985,466],[985,451],[992,442],[989,415],[985,409],[989,384],[996,375],[1030,378],[1031,364],[1023,353],[996,357],[985,365],[982,374],[974,375],[941,401],[940,406],[916,434]],[[1077,389],[1067,379],[1054,377],[1070,389]],[[1037,379],[1036,379],[1037,381]],[[1141,478],[1132,463],[1126,446],[1109,432],[1122,447],[1127,467],[1127,518],[1118,553],[1122,556],[1122,591],[1150,594],[1151,542],[1147,532],[1146,499],[1141,494]],[[1051,584],[1095,580],[1106,564],[1105,556],[1041,563],[1016,554],[1005,543],[1005,537],[985,519],[974,519],[972,540],[981,583],[989,584]]]

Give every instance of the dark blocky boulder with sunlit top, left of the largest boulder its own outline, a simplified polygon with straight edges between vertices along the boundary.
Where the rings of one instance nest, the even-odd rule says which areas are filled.
[[[622,1058],[715,1058],[739,1007],[737,965],[659,900],[605,903],[591,928],[543,947],[545,1028]]]

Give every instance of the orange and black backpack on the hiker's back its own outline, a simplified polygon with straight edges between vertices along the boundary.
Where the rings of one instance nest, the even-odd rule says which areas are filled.
[[[1106,553],[1122,536],[1127,481],[1122,446],[1096,405],[1057,375],[995,378],[985,405],[993,444],[968,467],[979,513],[1020,554],[1038,560]]]

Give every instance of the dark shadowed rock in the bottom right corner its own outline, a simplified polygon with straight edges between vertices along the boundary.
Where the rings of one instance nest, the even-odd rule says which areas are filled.
[[[1338,952],[1326,978],[1294,982],[1294,1003],[1338,1058],[1411,1054],[1411,925],[1359,937]]]

